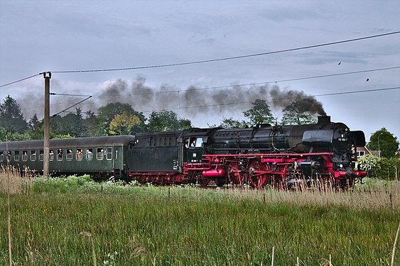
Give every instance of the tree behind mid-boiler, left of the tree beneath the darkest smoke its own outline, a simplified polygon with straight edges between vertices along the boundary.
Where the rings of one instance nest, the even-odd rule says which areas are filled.
[[[265,100],[256,99],[252,105],[252,109],[243,112],[244,116],[249,118],[252,126],[261,123],[273,124],[275,122],[275,118],[271,113],[271,109],[269,109],[269,105]]]

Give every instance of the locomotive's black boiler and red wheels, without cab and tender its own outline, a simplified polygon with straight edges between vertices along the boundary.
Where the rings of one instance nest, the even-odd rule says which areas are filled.
[[[311,125],[218,129],[204,143],[205,157],[217,162],[215,168],[226,170],[228,182],[249,182],[254,187],[286,187],[315,179],[351,186],[365,174],[354,171],[356,148],[364,145],[362,131],[331,123],[329,116],[320,116]],[[207,170],[203,174],[223,175]]]

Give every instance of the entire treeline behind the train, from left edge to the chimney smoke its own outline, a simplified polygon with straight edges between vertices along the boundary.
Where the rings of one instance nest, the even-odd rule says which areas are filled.
[[[297,106],[297,107],[296,107]],[[301,103],[293,102],[283,109],[281,124],[315,123],[315,116],[299,108]],[[223,128],[249,127],[259,123],[278,124],[265,100],[257,99],[252,108],[242,112],[245,119],[222,118]],[[80,138],[100,135],[129,135],[148,131],[175,131],[192,128],[189,119],[179,118],[175,111],[153,111],[148,118],[136,111],[130,104],[111,103],[101,106],[96,113],[82,112],[80,108],[65,116],[50,117],[50,138]],[[43,120],[33,115],[28,121],[21,113],[21,107],[11,96],[0,104],[0,140],[38,140],[43,138]]]

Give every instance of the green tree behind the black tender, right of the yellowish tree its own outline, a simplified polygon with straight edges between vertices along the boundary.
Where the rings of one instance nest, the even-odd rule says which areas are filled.
[[[192,127],[188,119],[178,118],[174,111],[152,111],[148,118],[148,131],[178,131]]]

